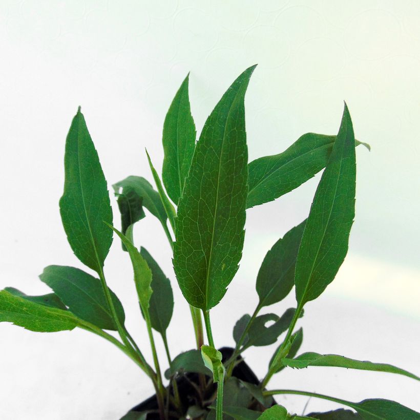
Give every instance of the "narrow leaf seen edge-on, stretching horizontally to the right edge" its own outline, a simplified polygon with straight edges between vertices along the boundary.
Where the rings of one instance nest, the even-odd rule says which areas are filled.
[[[420,381],[420,377],[413,373],[407,372],[404,369],[397,368],[392,365],[385,363],[372,363],[368,361],[359,361],[354,359],[348,359],[344,356],[337,354],[319,354],[313,352],[303,353],[296,359],[284,358],[282,359],[284,366],[292,368],[302,369],[308,366],[331,366],[331,367],[343,367],[346,369],[360,369],[360,370],[373,370],[376,372],[389,372],[405,375]]]

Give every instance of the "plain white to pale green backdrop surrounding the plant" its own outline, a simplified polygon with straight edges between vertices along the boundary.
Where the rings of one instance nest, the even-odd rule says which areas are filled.
[[[305,317],[302,351],[389,362],[420,373],[420,3],[417,1],[7,1],[0,0],[0,287],[48,292],[49,264],[82,268],[61,227],[64,144],[82,107],[109,185],[152,181],[146,146],[161,166],[165,113],[188,71],[198,133],[224,90],[259,66],[246,96],[249,157],[280,153],[301,134],[337,133],[343,100],[358,148],[356,219],[337,279]],[[301,222],[319,176],[247,212],[241,267],[213,310],[216,345],[257,303],[266,251]],[[113,197],[115,223],[118,210]],[[188,308],[156,219],[135,229],[173,281],[173,355],[193,347]],[[117,240],[106,263],[128,327],[150,360],[130,262]],[[267,310],[281,314],[293,293]],[[85,331],[40,334],[0,324],[0,418],[118,419],[153,392],[145,375]],[[245,353],[262,377],[274,348]],[[162,353],[162,364],[164,363]],[[285,370],[272,387],[361,401],[384,397],[420,411],[417,383],[392,374]],[[305,397],[279,398],[301,413]],[[335,407],[310,400],[307,411]]]

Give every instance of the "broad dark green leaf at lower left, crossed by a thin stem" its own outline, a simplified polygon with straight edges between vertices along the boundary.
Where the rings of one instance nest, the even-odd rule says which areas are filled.
[[[99,279],[78,268],[62,265],[45,267],[39,278],[54,290],[76,317],[102,329],[117,329]],[[118,319],[123,325],[124,309],[112,290],[110,294]]]

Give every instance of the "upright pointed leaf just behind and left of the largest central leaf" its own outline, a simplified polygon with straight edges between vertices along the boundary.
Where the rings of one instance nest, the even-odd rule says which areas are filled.
[[[190,169],[196,128],[188,97],[188,74],[176,93],[163,123],[162,180],[171,200],[178,204]]]

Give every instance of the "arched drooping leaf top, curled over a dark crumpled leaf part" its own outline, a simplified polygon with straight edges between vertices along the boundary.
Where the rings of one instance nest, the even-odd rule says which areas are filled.
[[[141,197],[143,207],[147,208],[162,225],[166,226],[166,212],[160,201],[159,193],[153,189],[150,182],[142,177],[129,176],[113,185],[116,194],[125,194],[127,190],[134,190]]]

